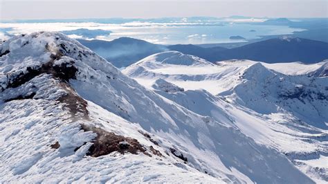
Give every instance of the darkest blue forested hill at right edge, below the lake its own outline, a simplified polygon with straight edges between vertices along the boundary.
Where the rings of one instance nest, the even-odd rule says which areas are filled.
[[[328,43],[302,38],[274,38],[225,50],[221,59],[251,59],[259,62],[315,63],[328,59]],[[213,62],[213,60],[210,60]]]

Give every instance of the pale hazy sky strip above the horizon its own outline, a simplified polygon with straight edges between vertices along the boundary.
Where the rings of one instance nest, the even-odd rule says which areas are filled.
[[[155,17],[328,17],[328,0],[0,0],[0,19]]]

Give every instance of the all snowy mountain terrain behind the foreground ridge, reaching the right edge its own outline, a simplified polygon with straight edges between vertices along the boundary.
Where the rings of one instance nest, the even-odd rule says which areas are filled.
[[[142,59],[123,73],[194,113],[230,122],[257,143],[285,154],[315,181],[327,181],[328,165],[322,164],[328,155],[327,61],[311,65],[202,61],[194,66],[185,63],[197,62],[193,59],[197,57],[162,64],[154,59],[158,55],[162,54]],[[184,91],[155,88],[158,80]]]

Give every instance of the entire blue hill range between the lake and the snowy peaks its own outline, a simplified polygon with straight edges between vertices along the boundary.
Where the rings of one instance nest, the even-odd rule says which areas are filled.
[[[192,44],[163,46],[129,37],[121,37],[111,42],[84,39],[78,41],[118,68],[129,66],[149,55],[167,50],[195,55],[210,62],[227,59],[251,59],[266,63],[303,62],[310,64],[328,59],[327,42],[298,37],[267,39],[230,49],[221,46],[203,48]]]

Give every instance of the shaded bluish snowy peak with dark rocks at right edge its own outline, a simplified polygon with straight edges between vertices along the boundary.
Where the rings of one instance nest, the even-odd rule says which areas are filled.
[[[240,84],[220,94],[235,93],[242,100],[238,104],[258,113],[291,111],[308,124],[327,129],[328,116],[323,113],[328,111],[327,83],[327,77],[283,75],[256,63],[244,71]]]

